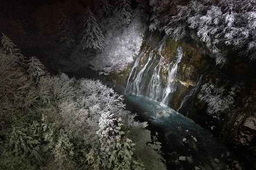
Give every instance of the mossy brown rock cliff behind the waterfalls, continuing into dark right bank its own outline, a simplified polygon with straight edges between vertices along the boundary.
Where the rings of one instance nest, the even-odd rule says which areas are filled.
[[[255,63],[234,59],[224,67],[215,67],[215,59],[209,54],[207,48],[196,44],[194,40],[175,42],[170,38],[163,40],[160,36],[154,37],[150,42],[144,40],[139,56],[134,59],[134,64],[129,65],[122,72],[110,73],[106,77],[115,84],[128,87],[127,92],[145,95],[158,101],[163,99],[166,85],[171,81],[173,91],[169,94],[170,107],[218,136],[232,147],[238,156],[241,156],[244,164],[248,164],[247,167],[255,167],[256,77],[253,76],[256,73],[253,67]],[[177,48],[182,48],[183,55],[177,64],[174,79],[169,79],[169,71],[177,62]],[[157,71],[159,73],[155,74]],[[140,74],[139,77],[137,77],[138,74]],[[152,84],[153,76],[156,78]],[[219,119],[207,115],[207,103],[200,101],[197,97],[202,84],[216,82],[217,79],[227,87],[236,82],[244,82],[243,90],[236,96],[236,106],[231,110],[232,113],[222,115]],[[137,82],[132,84],[134,81]],[[160,89],[154,95],[149,91],[152,85]],[[155,88],[154,91],[156,90]]]

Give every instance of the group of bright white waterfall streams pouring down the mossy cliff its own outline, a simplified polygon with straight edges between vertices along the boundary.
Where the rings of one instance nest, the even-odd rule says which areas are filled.
[[[145,49],[137,56],[134,65],[129,72],[125,92],[131,91],[137,95],[148,96],[150,99],[168,105],[169,94],[174,91],[172,80],[175,79],[177,65],[180,62],[183,53],[180,47],[177,48],[177,55],[175,57],[176,62],[175,64],[173,64],[174,62],[169,64],[169,66],[172,66],[172,69],[169,70],[166,88],[163,88],[163,85],[161,85],[161,74],[163,65],[165,64],[165,58],[162,56],[161,51],[166,38],[167,36],[163,37],[158,47],[149,52],[146,61],[144,61]]]

